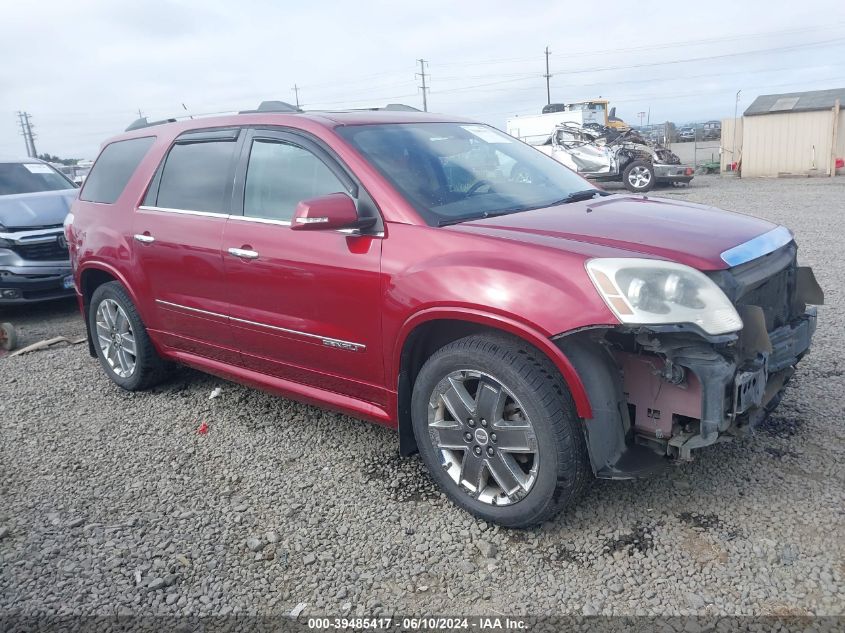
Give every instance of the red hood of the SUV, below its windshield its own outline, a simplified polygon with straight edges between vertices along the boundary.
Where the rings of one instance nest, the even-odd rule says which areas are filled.
[[[660,198],[613,195],[456,224],[452,229],[549,244],[550,238],[669,259],[698,270],[727,268],[721,254],[776,228],[759,218]],[[575,244],[572,244],[574,247]],[[579,245],[573,250],[584,252]],[[587,249],[589,251],[589,249]]]

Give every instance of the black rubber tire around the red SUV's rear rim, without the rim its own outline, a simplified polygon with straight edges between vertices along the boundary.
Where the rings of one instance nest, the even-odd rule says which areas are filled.
[[[135,367],[132,374],[126,377],[119,376],[110,366],[97,336],[97,309],[103,301],[108,299],[116,302],[126,313],[135,338]],[[168,376],[169,363],[162,360],[156,352],[135,304],[132,303],[129,293],[126,292],[120,282],[105,283],[94,291],[88,308],[88,322],[89,332],[94,340],[94,349],[97,351],[100,365],[115,384],[127,391],[142,391],[158,384]]]

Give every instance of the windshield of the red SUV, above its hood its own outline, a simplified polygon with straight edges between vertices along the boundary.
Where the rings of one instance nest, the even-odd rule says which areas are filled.
[[[435,226],[548,207],[593,189],[556,160],[486,125],[394,123],[337,131]]]

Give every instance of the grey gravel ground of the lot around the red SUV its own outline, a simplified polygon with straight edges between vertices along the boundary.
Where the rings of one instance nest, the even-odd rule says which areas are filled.
[[[845,179],[659,194],[787,224],[827,292],[754,437],[510,531],[388,429],[190,370],[125,393],[83,345],[0,359],[0,615],[843,614]],[[25,342],[83,332],[72,304],[0,318]]]

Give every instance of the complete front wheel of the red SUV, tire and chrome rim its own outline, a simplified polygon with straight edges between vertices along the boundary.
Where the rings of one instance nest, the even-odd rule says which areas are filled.
[[[441,348],[420,370],[411,407],[432,477],[486,521],[537,525],[572,504],[589,480],[562,377],[518,339],[469,336]]]

